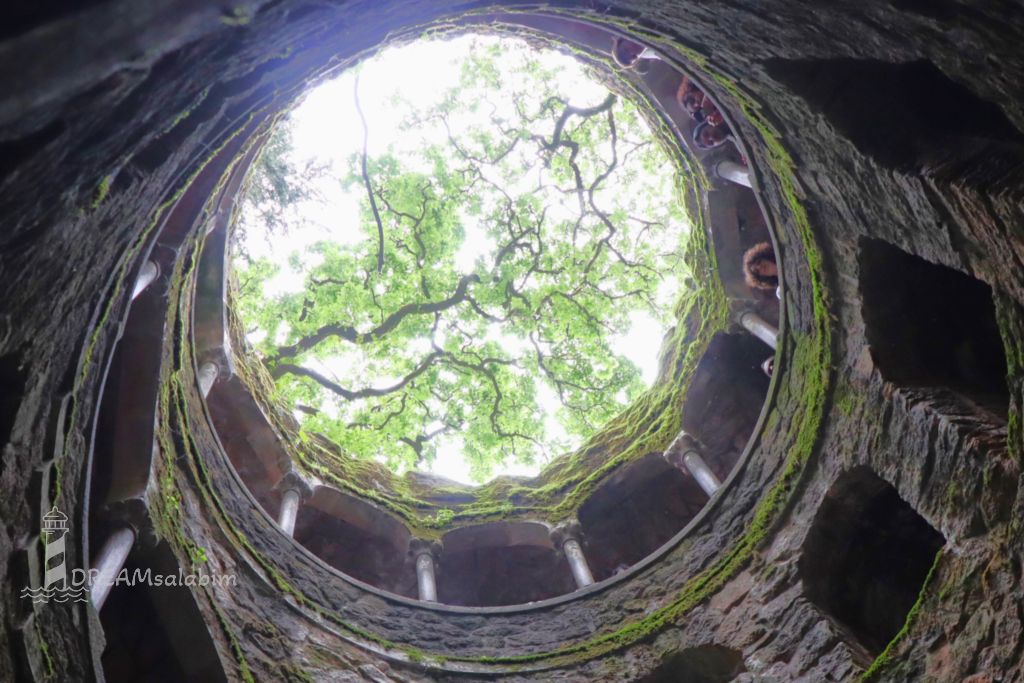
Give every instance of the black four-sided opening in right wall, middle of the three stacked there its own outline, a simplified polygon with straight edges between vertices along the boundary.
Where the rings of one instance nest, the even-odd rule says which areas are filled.
[[[1007,359],[991,289],[879,240],[861,240],[871,357],[903,386],[945,387],[1006,419]]]

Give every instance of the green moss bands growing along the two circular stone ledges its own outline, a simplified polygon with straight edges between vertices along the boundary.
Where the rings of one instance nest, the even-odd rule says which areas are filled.
[[[684,46],[679,47],[685,54],[691,52]],[[707,67],[699,55],[694,53],[691,58]],[[808,329],[790,331],[782,339],[791,353],[787,356],[790,367],[785,369],[787,383],[782,385],[780,390],[794,394],[786,396],[794,410],[790,416],[787,433],[784,439],[781,439],[790,444],[781,474],[771,483],[758,503],[743,533],[712,564],[688,581],[674,600],[654,612],[615,632],[601,634],[551,651],[499,657],[447,654],[443,656],[444,659],[501,664],[511,669],[525,668],[531,663],[542,661],[544,666],[559,666],[596,657],[648,638],[685,617],[693,607],[714,595],[746,566],[755,557],[757,549],[779,522],[799,489],[800,480],[820,437],[833,379],[831,328],[827,314],[828,294],[823,258],[799,198],[793,160],[781,144],[777,131],[761,116],[757,103],[740,91],[738,86],[722,75],[710,71],[709,73],[713,80],[734,96],[737,105],[759,131],[764,158],[758,160],[763,161],[774,174],[776,181],[774,186],[778,188],[782,201],[790,209],[790,219],[793,221],[792,233],[799,239],[807,260],[808,282],[804,285],[808,288],[808,295],[812,301],[812,319]],[[690,178],[699,186],[706,186],[707,178],[701,172],[693,173]],[[693,190],[689,188],[687,191]],[[689,206],[694,208],[698,218],[702,218],[699,215],[701,211],[699,202],[693,202]],[[714,254],[707,244],[700,225],[701,222],[695,223],[693,233],[696,239],[691,244],[688,258],[694,269],[694,280],[700,283],[701,288],[680,300],[677,309],[680,324],[670,336],[662,354],[665,367],[671,368],[674,372],[665,373],[662,381],[656,383],[641,400],[609,423],[605,430],[595,435],[580,452],[556,461],[541,477],[540,486],[529,487],[520,482],[499,479],[474,489],[475,498],[467,497],[467,490],[459,487],[442,490],[424,489],[418,487],[408,477],[393,476],[376,463],[347,458],[324,439],[315,436],[303,437],[297,429],[288,425],[287,420],[282,419],[280,422],[284,425],[282,431],[286,442],[296,454],[301,467],[342,490],[349,490],[388,509],[407,520],[414,533],[426,538],[437,535],[438,525],[475,523],[487,518],[512,515],[531,517],[543,515],[548,519],[557,519],[559,515],[570,514],[607,474],[639,455],[664,449],[668,444],[678,431],[681,422],[679,408],[682,405],[696,362],[714,334],[723,329],[727,323],[727,302],[715,276]],[[233,334],[239,338],[238,322],[232,321],[231,324]],[[183,325],[181,321],[178,321],[177,325],[183,330],[180,327]],[[338,614],[308,600],[274,569],[270,561],[255,551],[245,535],[236,527],[214,492],[203,459],[198,456],[195,444],[190,443],[191,431],[188,425],[190,392],[181,382],[182,369],[187,368],[187,364],[191,361],[187,347],[187,344],[180,345],[177,369],[166,378],[166,390],[161,394],[164,407],[162,413],[166,412],[162,434],[164,438],[169,438],[169,435],[173,434],[179,439],[174,445],[180,449],[178,453],[186,463],[189,478],[197,484],[204,506],[211,512],[211,521],[217,523],[224,531],[228,543],[253,559],[274,586],[283,593],[295,596],[303,606],[343,627],[347,633],[357,638],[406,653],[411,660],[421,660],[425,656],[433,657],[434,655],[425,654],[419,649],[395,645],[357,627],[345,624]],[[272,401],[272,382],[261,373],[259,366],[247,365],[245,358],[242,360],[243,362],[239,364],[240,375],[249,383],[255,396],[270,397],[264,408],[275,416],[274,421],[278,422],[276,416],[281,415],[279,411],[283,411],[283,407],[275,405]],[[190,377],[190,372],[186,372],[185,376]],[[268,387],[271,391],[264,393],[260,390]],[[778,429],[777,419],[770,418],[768,424],[773,429]],[[381,494],[381,488],[388,490],[388,494]],[[463,498],[469,498],[470,501],[454,503],[452,500]],[[439,514],[439,510],[451,510],[451,519],[446,513]]]

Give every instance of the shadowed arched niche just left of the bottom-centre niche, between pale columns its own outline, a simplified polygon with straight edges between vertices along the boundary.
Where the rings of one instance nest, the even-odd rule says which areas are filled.
[[[407,561],[411,535],[398,520],[355,497],[317,486],[299,508],[295,540],[354,579],[415,597]]]

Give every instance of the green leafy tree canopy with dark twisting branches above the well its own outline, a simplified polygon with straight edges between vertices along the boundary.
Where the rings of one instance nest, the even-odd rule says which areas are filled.
[[[369,153],[370,68],[352,79],[361,129],[346,132],[361,150],[332,181],[358,215],[335,217],[345,239],[288,254],[301,287],[274,294],[284,262],[244,243],[287,234],[286,208],[326,173],[292,160],[292,124],[279,124],[248,182],[236,305],[303,429],[396,470],[460,447],[484,480],[558,455],[643,391],[615,340],[637,310],[669,326],[688,225],[631,101],[580,101],[567,57],[470,45],[454,87],[392,96],[398,129],[374,132],[413,145]]]

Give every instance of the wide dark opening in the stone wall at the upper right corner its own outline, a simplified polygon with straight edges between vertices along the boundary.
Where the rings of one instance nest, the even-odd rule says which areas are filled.
[[[769,59],[765,69],[862,154],[890,168],[921,168],[978,141],[1024,142],[996,104],[930,61]]]

